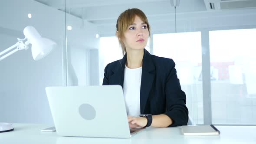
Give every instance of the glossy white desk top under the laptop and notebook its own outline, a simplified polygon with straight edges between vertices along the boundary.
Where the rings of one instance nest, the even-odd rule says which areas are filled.
[[[180,128],[147,128],[129,139],[61,137],[41,132],[51,125],[15,124],[15,130],[0,133],[0,144],[256,144],[256,126],[216,126],[219,136],[184,136]]]

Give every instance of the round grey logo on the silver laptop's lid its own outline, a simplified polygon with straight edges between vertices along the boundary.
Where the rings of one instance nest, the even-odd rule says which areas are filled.
[[[92,120],[96,116],[96,111],[92,105],[82,104],[79,106],[79,114],[86,120]]]

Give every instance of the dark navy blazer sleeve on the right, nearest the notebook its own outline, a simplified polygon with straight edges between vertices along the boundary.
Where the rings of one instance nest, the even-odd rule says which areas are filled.
[[[168,127],[187,125],[188,109],[186,107],[186,94],[181,90],[174,61],[168,64],[167,79],[165,84],[166,112],[173,123]]]

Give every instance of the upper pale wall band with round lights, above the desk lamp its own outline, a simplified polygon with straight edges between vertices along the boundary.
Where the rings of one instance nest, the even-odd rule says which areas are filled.
[[[32,14],[32,19],[28,18]],[[23,32],[28,26],[34,26],[42,36],[53,39],[61,44],[61,37],[65,38],[65,13],[48,7],[34,0],[6,0],[0,5],[0,27]],[[98,48],[98,39],[95,38],[97,27],[92,23],[66,13],[66,24],[72,26],[67,31],[69,45]]]

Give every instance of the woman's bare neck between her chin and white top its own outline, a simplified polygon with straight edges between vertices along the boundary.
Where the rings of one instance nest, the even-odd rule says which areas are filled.
[[[130,69],[136,69],[142,66],[144,49],[126,49],[127,61],[125,65]]]

